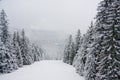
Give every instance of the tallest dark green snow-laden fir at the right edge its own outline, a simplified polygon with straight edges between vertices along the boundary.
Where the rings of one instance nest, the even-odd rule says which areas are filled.
[[[95,28],[94,80],[120,80],[120,0],[100,2]]]

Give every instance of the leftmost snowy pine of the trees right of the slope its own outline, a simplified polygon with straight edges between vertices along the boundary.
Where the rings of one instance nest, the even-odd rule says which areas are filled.
[[[67,64],[72,64],[72,55],[73,55],[73,49],[74,49],[74,44],[72,41],[72,35],[69,36],[68,43],[65,46],[64,50],[64,57],[63,57],[63,62]]]

